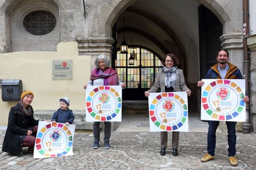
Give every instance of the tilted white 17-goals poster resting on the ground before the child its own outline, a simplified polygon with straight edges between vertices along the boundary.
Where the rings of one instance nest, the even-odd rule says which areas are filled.
[[[72,144],[76,125],[39,121],[34,158],[74,155]]]

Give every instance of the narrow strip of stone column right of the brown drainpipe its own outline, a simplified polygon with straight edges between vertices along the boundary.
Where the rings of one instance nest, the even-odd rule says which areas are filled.
[[[250,49],[250,103],[251,103],[251,122],[252,132],[256,133],[256,34],[247,37],[247,45]]]

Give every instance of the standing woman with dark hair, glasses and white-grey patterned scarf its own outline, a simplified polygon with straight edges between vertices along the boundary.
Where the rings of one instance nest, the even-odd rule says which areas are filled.
[[[161,92],[186,91],[187,96],[191,95],[191,90],[187,88],[183,71],[177,68],[178,58],[174,54],[167,54],[162,64],[164,65],[157,73],[155,83],[151,89],[145,91],[145,96],[149,93],[155,93],[160,88]],[[172,132],[172,155],[178,155],[179,132]],[[160,155],[165,155],[167,147],[168,133],[161,132],[161,151]]]

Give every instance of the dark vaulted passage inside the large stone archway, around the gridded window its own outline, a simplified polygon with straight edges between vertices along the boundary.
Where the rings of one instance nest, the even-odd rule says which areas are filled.
[[[147,3],[145,0],[137,0],[125,7],[125,10],[116,16],[112,27],[112,37],[115,40],[112,61],[117,58],[115,49],[120,48],[123,39],[128,44],[132,40],[133,44],[146,46],[159,54],[160,60],[167,53],[175,54],[180,62],[178,67],[183,70],[186,84],[193,93],[188,98],[189,110],[198,111],[201,93],[196,84],[204,77],[209,65],[216,62],[214,51],[220,48],[219,37],[223,34],[222,23],[217,17],[219,15],[211,12],[209,5],[203,5],[207,5],[203,0],[148,0]],[[223,19],[221,21],[225,23]],[[115,62],[112,62],[112,66],[114,65]],[[128,78],[128,75],[126,76]],[[134,86],[142,84],[137,83]],[[138,100],[147,100],[143,96],[146,89],[139,89],[127,88],[124,95],[127,94],[134,100],[134,96],[142,95]]]

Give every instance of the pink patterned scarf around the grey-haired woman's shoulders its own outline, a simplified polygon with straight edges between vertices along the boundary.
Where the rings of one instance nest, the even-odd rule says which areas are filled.
[[[94,68],[90,80],[93,81],[100,78],[103,78],[104,86],[118,85],[118,76],[113,68],[108,67],[104,72],[100,68]]]

